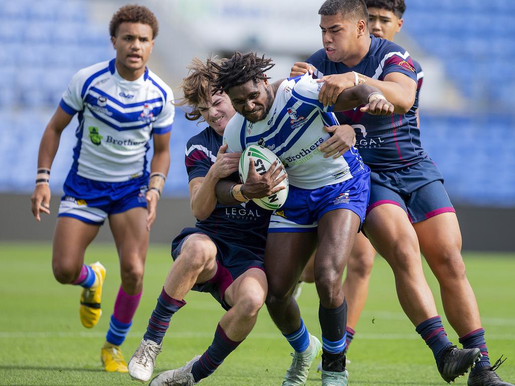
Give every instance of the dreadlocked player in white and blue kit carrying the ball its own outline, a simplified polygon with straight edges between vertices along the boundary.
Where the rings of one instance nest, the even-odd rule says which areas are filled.
[[[354,148],[333,159],[324,157],[319,147],[330,137],[324,127],[336,124],[333,111],[362,106],[363,114],[389,115],[393,105],[375,87],[359,85],[339,94],[334,105],[324,106],[318,101],[322,83],[310,74],[269,83],[265,72],[271,60],[253,53],[236,52],[230,60],[211,65],[217,74],[214,89],[227,93],[238,113],[224,133],[227,151],[259,144],[279,156],[288,171],[288,198],[271,216],[265,248],[268,311],[295,350],[283,385],[304,385],[321,350],[322,384],[346,385],[347,303],[340,283],[365,217],[370,171]],[[218,201],[233,203],[225,184],[217,185]],[[247,189],[245,195],[255,197]],[[314,269],[322,344],[308,333],[291,296],[317,242]]]

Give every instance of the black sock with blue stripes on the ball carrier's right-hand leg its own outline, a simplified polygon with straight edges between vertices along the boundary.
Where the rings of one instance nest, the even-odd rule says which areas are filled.
[[[347,347],[347,301],[336,308],[318,307],[318,319],[322,329],[322,349],[324,353],[338,354]]]

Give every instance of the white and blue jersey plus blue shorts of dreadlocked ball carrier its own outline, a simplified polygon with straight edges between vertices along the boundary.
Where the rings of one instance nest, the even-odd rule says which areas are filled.
[[[324,126],[337,125],[332,106],[318,101],[323,83],[311,75],[284,80],[267,116],[249,122],[236,114],[224,132],[228,152],[258,144],[273,151],[288,173],[286,202],[270,219],[268,232],[315,232],[330,210],[349,209],[361,222],[369,198],[370,170],[355,148],[325,158],[318,150],[329,139]]]

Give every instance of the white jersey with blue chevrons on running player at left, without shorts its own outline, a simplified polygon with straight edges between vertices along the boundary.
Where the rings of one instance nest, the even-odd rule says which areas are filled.
[[[165,134],[174,121],[170,87],[156,74],[122,78],[114,59],[81,69],[59,106],[78,113],[72,171],[96,181],[121,182],[147,173],[152,134]]]

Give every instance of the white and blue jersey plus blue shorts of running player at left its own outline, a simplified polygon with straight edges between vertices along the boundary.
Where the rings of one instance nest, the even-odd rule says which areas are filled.
[[[173,98],[148,68],[139,79],[123,79],[114,59],[74,75],[59,103],[79,114],[60,217],[102,224],[109,215],[146,207],[148,142],[171,130]]]

